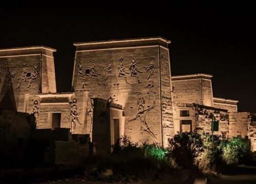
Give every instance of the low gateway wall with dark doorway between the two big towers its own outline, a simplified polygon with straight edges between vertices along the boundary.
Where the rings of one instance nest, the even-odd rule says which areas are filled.
[[[74,101],[75,100],[75,101]],[[60,113],[60,128],[72,128],[71,111],[76,107],[76,113],[79,113],[75,121],[75,134],[89,134],[88,126],[88,92],[76,91],[75,93],[64,94],[37,94],[26,95],[26,111],[34,114],[37,118],[37,128],[52,128],[52,113]],[[35,103],[37,102],[37,103]],[[36,109],[37,113],[34,113]],[[75,112],[74,111],[74,112]],[[79,112],[80,111],[80,112]],[[81,125],[78,123],[81,123]]]

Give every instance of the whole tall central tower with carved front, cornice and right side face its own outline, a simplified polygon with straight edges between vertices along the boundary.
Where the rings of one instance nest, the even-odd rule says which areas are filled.
[[[168,43],[161,37],[75,43],[73,89],[122,105],[121,132],[132,141],[141,134],[142,142],[166,144],[173,133]]]

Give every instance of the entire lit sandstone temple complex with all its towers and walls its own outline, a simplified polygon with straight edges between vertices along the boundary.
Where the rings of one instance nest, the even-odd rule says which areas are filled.
[[[74,43],[70,93],[56,93],[55,49],[1,49],[0,101],[11,81],[17,111],[34,114],[36,128],[69,128],[95,145],[127,135],[166,147],[177,132],[211,133],[218,122],[214,134],[249,137],[256,151],[251,114],[238,112],[237,100],[214,97],[211,75],[172,76],[169,43],[162,37]]]

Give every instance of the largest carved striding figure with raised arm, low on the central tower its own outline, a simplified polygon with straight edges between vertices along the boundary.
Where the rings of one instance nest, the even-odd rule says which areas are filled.
[[[128,122],[130,122],[130,121],[134,121],[134,120],[137,120],[138,118],[140,118],[141,126],[140,126],[139,141],[140,141],[140,137],[144,131],[147,131],[148,133],[150,133],[151,136],[154,137],[154,139],[157,139],[157,137],[154,135],[154,133],[151,131],[150,127],[146,123],[146,113],[148,111],[150,111],[151,109],[153,109],[155,107],[155,104],[156,104],[155,98],[154,98],[154,102],[150,108],[144,109],[144,106],[142,104],[139,104],[138,112],[137,112],[135,118],[133,118],[131,120],[127,120]]]

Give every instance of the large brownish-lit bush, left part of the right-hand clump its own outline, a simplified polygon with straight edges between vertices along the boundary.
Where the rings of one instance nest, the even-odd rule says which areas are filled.
[[[220,137],[208,133],[179,133],[169,140],[177,164],[202,172],[213,170],[219,164]]]

